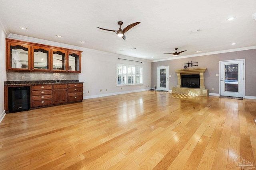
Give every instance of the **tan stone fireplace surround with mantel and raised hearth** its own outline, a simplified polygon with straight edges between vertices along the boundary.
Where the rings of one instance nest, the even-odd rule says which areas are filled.
[[[172,88],[172,93],[179,94],[192,94],[195,96],[209,96],[209,89],[204,86],[204,72],[207,68],[188,68],[175,70],[178,77],[178,84]],[[199,74],[200,76],[200,87],[199,88],[185,88],[181,87],[181,75]]]

